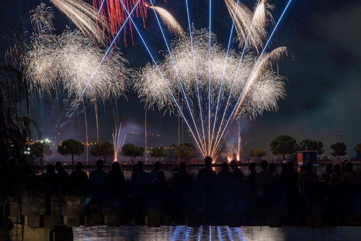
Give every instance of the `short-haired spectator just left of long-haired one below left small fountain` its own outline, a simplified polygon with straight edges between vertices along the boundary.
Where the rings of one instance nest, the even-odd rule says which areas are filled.
[[[97,160],[96,169],[89,175],[90,192],[95,195],[103,193],[108,182],[108,174],[103,170],[103,160]]]

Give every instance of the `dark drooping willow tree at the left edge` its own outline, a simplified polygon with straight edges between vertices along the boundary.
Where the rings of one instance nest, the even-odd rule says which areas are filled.
[[[29,190],[36,178],[26,155],[32,126],[41,138],[38,126],[28,116],[29,88],[17,68],[0,66],[0,202],[17,199]]]

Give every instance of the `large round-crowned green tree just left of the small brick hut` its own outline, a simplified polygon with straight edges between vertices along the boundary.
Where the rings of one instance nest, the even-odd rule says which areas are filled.
[[[274,155],[282,155],[282,159],[286,154],[292,155],[298,149],[296,139],[290,135],[279,135],[270,143],[271,151]]]

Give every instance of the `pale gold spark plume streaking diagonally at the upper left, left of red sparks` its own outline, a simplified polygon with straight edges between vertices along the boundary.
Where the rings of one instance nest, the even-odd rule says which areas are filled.
[[[98,25],[98,22],[102,23],[104,29],[108,29],[108,26],[105,25],[105,21],[101,16],[94,14],[94,9],[91,5],[82,0],[50,1],[60,12],[64,13],[84,35],[96,39],[99,43],[105,43],[105,36],[100,36],[99,34],[103,32],[103,30]]]

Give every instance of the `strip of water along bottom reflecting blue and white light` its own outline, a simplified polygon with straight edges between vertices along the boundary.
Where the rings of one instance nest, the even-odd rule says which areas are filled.
[[[272,240],[360,240],[361,227],[240,227],[188,228],[187,226],[82,226],[73,228],[74,241],[169,240],[169,241],[272,241]]]

